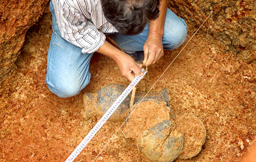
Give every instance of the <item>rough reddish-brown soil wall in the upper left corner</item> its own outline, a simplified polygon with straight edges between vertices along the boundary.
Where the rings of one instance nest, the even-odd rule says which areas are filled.
[[[4,0],[0,2],[0,96],[14,88],[17,66],[27,30],[43,12],[49,0]]]

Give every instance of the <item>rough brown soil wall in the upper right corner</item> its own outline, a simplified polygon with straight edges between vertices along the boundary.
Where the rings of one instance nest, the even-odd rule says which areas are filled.
[[[207,39],[242,60],[256,63],[256,2],[253,0],[168,0],[168,7],[195,32],[213,10]],[[211,19],[199,30],[206,36]]]

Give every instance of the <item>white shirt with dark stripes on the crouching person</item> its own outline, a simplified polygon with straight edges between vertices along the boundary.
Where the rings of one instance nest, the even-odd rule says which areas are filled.
[[[52,0],[61,36],[93,53],[106,39],[103,33],[118,32],[103,14],[100,0]]]

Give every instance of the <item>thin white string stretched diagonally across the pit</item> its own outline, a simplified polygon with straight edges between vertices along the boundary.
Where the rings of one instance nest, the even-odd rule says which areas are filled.
[[[211,13],[212,14],[212,13]],[[204,20],[204,22],[202,23],[202,25],[205,23],[205,21],[211,16],[211,14]],[[202,26],[201,25],[201,26]],[[201,26],[197,29],[197,31],[195,32],[195,34],[198,32],[198,30],[201,28]],[[194,35],[195,35],[194,34]],[[189,39],[189,41],[194,37],[194,35]],[[186,45],[189,43],[189,41],[186,43]],[[186,45],[181,49],[181,51],[186,47]],[[181,51],[177,54],[177,56],[173,59],[173,61],[179,56],[179,54],[181,53]],[[164,72],[162,73],[162,75],[158,78],[158,80],[164,75],[164,73],[166,72],[166,70],[171,66],[171,64],[173,63],[173,61],[170,63],[170,65],[164,70]],[[158,82],[158,80],[155,82],[155,84]],[[155,84],[153,84],[153,86],[150,88],[150,90],[155,86]],[[150,92],[150,90],[145,94],[145,96],[141,99],[141,101],[139,102],[139,104],[142,102],[142,100],[147,96],[147,94]],[[135,109],[139,106],[139,104],[135,107]],[[126,120],[123,122],[123,124],[127,121],[127,119],[133,114],[134,110],[130,113],[130,115],[126,118]],[[120,128],[123,126],[123,124],[118,128],[118,130],[120,130]],[[102,148],[102,150],[98,153],[98,155],[95,157],[95,159],[99,156],[99,154],[104,150],[104,148],[108,145],[108,143],[111,141],[111,139],[117,134],[118,130],[116,131],[116,133],[110,138],[110,140],[107,142],[107,144]],[[93,161],[95,161],[95,159]],[[92,161],[92,162],[93,162]]]

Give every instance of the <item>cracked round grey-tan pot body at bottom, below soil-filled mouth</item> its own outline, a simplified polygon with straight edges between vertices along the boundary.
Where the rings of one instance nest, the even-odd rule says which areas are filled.
[[[162,121],[142,133],[139,151],[151,161],[173,161],[183,148],[183,135],[170,132],[170,121]]]

